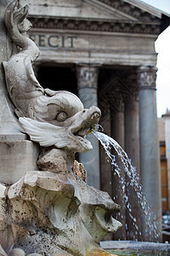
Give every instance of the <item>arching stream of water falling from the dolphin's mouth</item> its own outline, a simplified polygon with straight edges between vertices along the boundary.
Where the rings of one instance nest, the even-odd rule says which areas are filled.
[[[105,148],[107,160],[111,160],[111,170],[113,172],[113,175],[116,175],[118,177],[119,182],[121,183],[122,201],[124,201],[126,211],[128,212],[129,217],[132,219],[133,227],[135,230],[133,240],[137,240],[138,235],[142,236],[142,234],[140,227],[138,225],[138,221],[134,217],[132,201],[139,202],[140,216],[143,220],[145,229],[144,237],[154,237],[154,239],[156,240],[160,236],[161,230],[158,230],[157,228],[159,225],[156,222],[156,216],[151,211],[150,206],[146,201],[146,198],[142,191],[142,185],[140,183],[139,174],[136,171],[136,168],[133,166],[132,161],[128,158],[127,153],[121,148],[121,146],[118,143],[116,143],[116,141],[113,138],[105,135],[103,132],[93,131],[93,133],[94,136]],[[114,154],[112,153],[113,148]],[[117,164],[117,158],[121,160],[121,165]],[[127,178],[123,177],[122,171],[125,173]],[[133,195],[131,195],[130,193],[132,191]],[[133,196],[133,198],[130,198],[130,196]]]

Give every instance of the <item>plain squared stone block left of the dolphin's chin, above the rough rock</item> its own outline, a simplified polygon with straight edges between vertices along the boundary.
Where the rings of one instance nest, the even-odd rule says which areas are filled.
[[[38,145],[31,141],[0,141],[0,182],[12,184],[28,171],[38,170]]]

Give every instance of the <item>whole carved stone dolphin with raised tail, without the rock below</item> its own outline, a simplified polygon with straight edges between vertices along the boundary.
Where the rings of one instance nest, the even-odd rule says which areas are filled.
[[[19,1],[13,1],[4,18],[9,36],[18,48],[8,61],[3,61],[14,111],[32,141],[43,147],[86,152],[92,145],[85,137],[99,122],[100,110],[97,107],[84,109],[71,92],[43,89],[38,83],[31,64],[37,59],[39,49],[26,37],[31,28],[27,14],[27,5],[20,7]]]

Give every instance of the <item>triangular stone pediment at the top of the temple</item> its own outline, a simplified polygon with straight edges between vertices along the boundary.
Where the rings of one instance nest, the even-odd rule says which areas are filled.
[[[30,15],[58,17],[77,20],[122,20],[156,22],[159,15],[153,15],[149,9],[141,9],[137,4],[126,0],[27,0],[30,4]],[[128,1],[129,2],[129,1]],[[138,3],[137,1],[135,3]]]

